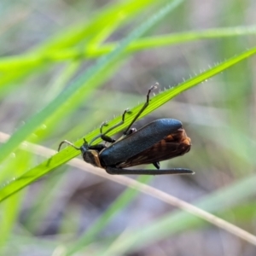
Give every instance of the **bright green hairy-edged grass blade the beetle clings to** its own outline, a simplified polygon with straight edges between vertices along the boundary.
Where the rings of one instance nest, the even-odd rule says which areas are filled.
[[[144,111],[142,118],[147,113],[152,112],[155,108],[159,108],[161,105],[163,105],[165,102],[168,102],[170,99],[172,99],[174,96],[177,96],[184,90],[188,90],[189,88],[192,88],[196,84],[199,84],[206,79],[211,78],[213,75],[217,73],[223,72],[225,69],[235,65],[236,63],[243,61],[247,59],[248,57],[254,55],[256,53],[256,48],[248,49],[246,52],[242,53],[241,55],[237,55],[236,57],[231,58],[228,61],[224,61],[221,64],[218,64],[216,67],[212,67],[209,70],[207,70],[204,73],[201,73],[194,78],[191,78],[182,84],[177,85],[174,88],[171,88],[170,90],[166,90],[165,92],[154,96],[154,98],[151,99],[151,102],[148,106],[148,108]],[[131,109],[132,114],[127,117],[125,120],[125,123],[129,123],[131,119],[136,115],[138,110],[142,107],[142,105],[137,106],[136,108]],[[111,122],[109,122],[109,125],[115,125],[119,122],[120,117],[113,119]],[[125,128],[124,125],[120,125],[118,128],[113,129],[113,131],[109,132],[109,135],[113,135],[114,133],[121,131]],[[92,131],[88,136],[86,136],[86,139],[90,141],[92,137],[95,137],[98,134],[98,129],[96,131]],[[80,139],[76,144],[79,146],[83,143],[83,139]],[[61,166],[62,164],[66,163],[68,160],[71,160],[74,156],[78,155],[79,151],[73,149],[73,148],[65,148],[61,150],[60,153],[53,155],[49,160],[45,160],[40,165],[32,168],[28,172],[26,172],[24,175],[15,178],[15,181],[11,181],[9,183],[6,183],[3,185],[3,187],[0,189],[0,201],[3,201],[9,195],[14,194],[16,191],[26,187],[29,183],[32,183],[34,180],[38,179],[39,177],[44,176],[46,173],[54,170],[57,166]]]

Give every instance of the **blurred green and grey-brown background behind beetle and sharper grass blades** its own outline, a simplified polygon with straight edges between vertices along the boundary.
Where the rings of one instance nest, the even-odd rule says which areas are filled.
[[[137,7],[136,1],[2,0],[0,131],[9,135],[17,131],[108,53],[108,47],[102,46],[119,43],[165,4],[148,1]],[[144,102],[151,84],[160,84],[157,93],[255,46],[255,34],[248,29],[255,24],[255,9],[254,1],[180,3],[144,37],[216,29],[215,38],[179,38],[177,44],[126,52],[94,77],[83,101],[61,108],[61,113],[47,119],[28,140],[53,149],[64,139],[74,142],[102,121]],[[111,20],[115,15],[118,19]],[[109,29],[105,25],[111,22]],[[222,28],[237,27],[237,33],[218,35]],[[139,128],[160,118],[181,120],[192,148],[183,157],[162,162],[161,168],[185,167],[195,175],[152,177],[147,183],[198,203],[252,234],[256,233],[256,186],[252,183],[255,61],[255,57],[242,61],[183,92],[135,125]],[[18,150],[0,166],[1,183],[43,160],[37,152]],[[116,255],[256,255],[256,247],[247,241],[199,218],[189,220],[175,207],[149,195],[137,192],[121,206],[117,200],[125,189],[119,183],[61,166],[1,203],[1,255],[66,255],[73,247],[70,255],[103,255],[109,248],[121,247],[127,232],[131,237],[142,234]],[[129,191],[127,195],[135,193]],[[119,212],[111,215],[108,211],[115,202]],[[111,221],[79,244],[96,221],[108,214]]]

